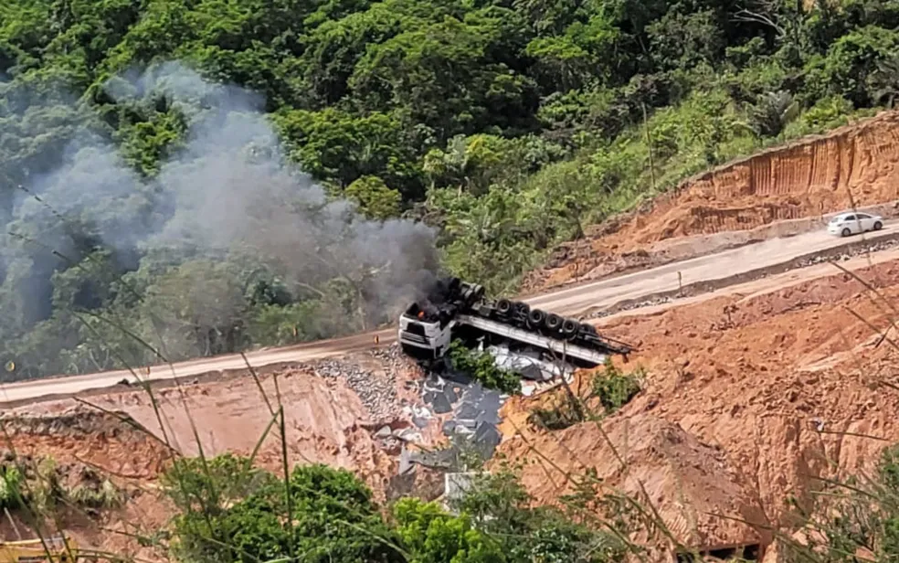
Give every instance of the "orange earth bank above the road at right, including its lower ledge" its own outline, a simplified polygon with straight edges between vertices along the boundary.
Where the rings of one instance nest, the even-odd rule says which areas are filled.
[[[892,217],[899,199],[899,112],[715,168],[561,245],[525,292],[820,228],[852,207]]]

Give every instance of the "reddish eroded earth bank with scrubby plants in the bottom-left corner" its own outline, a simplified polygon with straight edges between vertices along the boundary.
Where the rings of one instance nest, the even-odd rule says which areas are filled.
[[[2,424],[4,472],[24,473],[22,494],[32,510],[47,511],[37,526],[28,510],[5,511],[5,540],[64,531],[81,549],[158,560],[135,535],[151,535],[172,514],[154,483],[175,451],[123,413],[78,404],[45,413],[14,410]]]

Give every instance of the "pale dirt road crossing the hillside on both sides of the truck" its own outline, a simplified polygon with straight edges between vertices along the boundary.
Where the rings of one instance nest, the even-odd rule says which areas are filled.
[[[887,225],[878,233],[867,233],[865,239],[887,238],[896,234],[895,224]],[[726,250],[693,260],[683,260],[646,271],[629,273],[619,277],[591,282],[586,285],[548,292],[526,301],[532,307],[565,315],[576,315],[590,309],[608,306],[624,300],[648,296],[657,292],[676,289],[683,285],[712,281],[744,271],[775,266],[796,257],[829,250],[861,237],[841,239],[826,232],[815,231],[788,239],[770,239],[735,250]],[[680,277],[679,277],[680,275]],[[302,362],[328,356],[339,356],[351,350],[375,346],[375,336],[380,345],[396,341],[396,328],[376,333],[354,335],[346,338],[295,345],[277,349],[262,349],[248,353],[247,359],[239,355],[217,356],[190,360],[173,365],[141,367],[132,373],[127,370],[102,372],[83,376],[62,376],[11,383],[0,388],[0,403],[21,402],[42,397],[59,397],[82,391],[108,388],[126,380],[165,380],[175,377],[191,377],[250,366],[268,366],[282,362]]]

